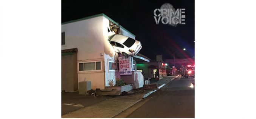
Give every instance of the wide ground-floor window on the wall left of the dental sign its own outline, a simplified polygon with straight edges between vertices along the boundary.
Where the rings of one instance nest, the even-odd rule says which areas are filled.
[[[101,61],[79,63],[79,71],[101,70]]]

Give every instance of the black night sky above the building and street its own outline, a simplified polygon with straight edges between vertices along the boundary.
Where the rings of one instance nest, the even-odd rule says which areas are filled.
[[[156,24],[154,10],[164,3],[185,8],[186,24]],[[62,0],[62,22],[104,13],[136,35],[142,44],[140,53],[150,59],[156,59],[156,55],[172,59],[177,50],[175,59],[189,58],[195,54],[194,7],[194,0]]]

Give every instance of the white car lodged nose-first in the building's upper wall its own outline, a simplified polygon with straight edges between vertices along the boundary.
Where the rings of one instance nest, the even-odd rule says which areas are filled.
[[[123,54],[125,57],[127,57],[127,55],[137,55],[142,48],[140,41],[118,34],[114,35],[109,42],[116,52]]]

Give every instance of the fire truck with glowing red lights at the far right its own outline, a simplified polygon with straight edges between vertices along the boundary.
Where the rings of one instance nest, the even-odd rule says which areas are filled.
[[[181,74],[184,78],[195,78],[195,65],[182,66]]]

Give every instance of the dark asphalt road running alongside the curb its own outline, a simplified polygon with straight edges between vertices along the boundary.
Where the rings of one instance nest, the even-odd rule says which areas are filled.
[[[146,99],[127,118],[194,118],[194,79],[176,78]],[[151,99],[150,99],[151,98]]]

